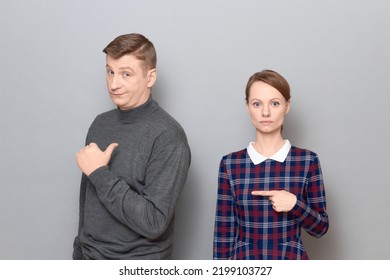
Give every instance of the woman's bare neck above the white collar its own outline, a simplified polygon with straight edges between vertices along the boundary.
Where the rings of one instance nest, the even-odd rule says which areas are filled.
[[[277,134],[256,134],[256,141],[253,144],[255,150],[265,157],[274,155],[283,147],[285,141],[281,133]]]

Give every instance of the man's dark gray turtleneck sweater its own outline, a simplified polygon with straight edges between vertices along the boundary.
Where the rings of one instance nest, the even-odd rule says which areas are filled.
[[[108,166],[83,174],[74,259],[166,259],[191,154],[182,127],[150,98],[96,117],[86,144],[118,143]]]

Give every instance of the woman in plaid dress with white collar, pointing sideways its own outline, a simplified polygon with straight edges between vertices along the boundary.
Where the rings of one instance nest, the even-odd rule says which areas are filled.
[[[301,228],[328,230],[318,156],[283,139],[290,87],[281,75],[255,73],[245,94],[256,140],[220,162],[214,259],[308,259]]]

